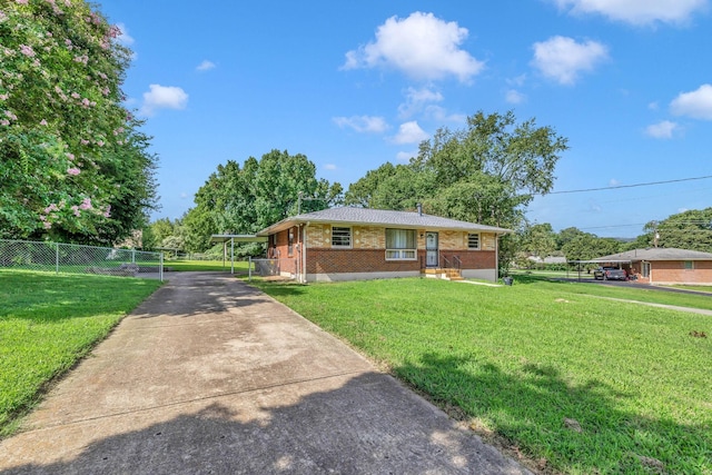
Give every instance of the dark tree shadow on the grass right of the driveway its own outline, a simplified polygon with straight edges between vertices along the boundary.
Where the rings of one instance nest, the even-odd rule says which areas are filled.
[[[708,473],[709,420],[679,424],[620,409],[632,395],[573,385],[552,366],[507,373],[474,358],[424,354],[395,374],[514,453],[564,473]],[[454,410],[453,410],[454,408]],[[493,431],[494,433],[491,433]],[[705,472],[708,471],[708,472]]]

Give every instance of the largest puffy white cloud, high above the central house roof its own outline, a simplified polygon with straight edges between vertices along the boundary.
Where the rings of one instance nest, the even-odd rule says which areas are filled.
[[[376,30],[376,39],[346,53],[343,69],[395,68],[416,79],[455,76],[467,82],[484,68],[461,49],[469,32],[456,22],[416,11],[408,18],[390,17]]]

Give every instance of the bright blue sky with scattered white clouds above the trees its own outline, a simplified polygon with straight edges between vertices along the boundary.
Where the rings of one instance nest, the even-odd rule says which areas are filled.
[[[304,154],[344,188],[514,110],[568,138],[527,217],[634,237],[712,206],[710,0],[100,0],[179,218],[219,164]],[[655,186],[631,185],[684,180]],[[586,192],[581,189],[620,187]]]

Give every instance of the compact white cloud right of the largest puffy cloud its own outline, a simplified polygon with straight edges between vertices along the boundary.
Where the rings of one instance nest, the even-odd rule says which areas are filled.
[[[552,37],[534,43],[532,66],[562,85],[573,85],[582,72],[590,72],[607,59],[607,48],[596,41],[577,43],[572,38]]]

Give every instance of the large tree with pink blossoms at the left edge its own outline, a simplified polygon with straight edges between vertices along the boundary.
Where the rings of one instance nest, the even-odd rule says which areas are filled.
[[[155,207],[119,33],[83,0],[0,0],[0,237],[112,244]]]

